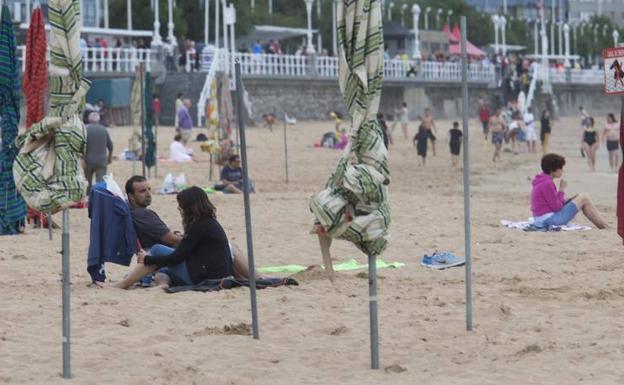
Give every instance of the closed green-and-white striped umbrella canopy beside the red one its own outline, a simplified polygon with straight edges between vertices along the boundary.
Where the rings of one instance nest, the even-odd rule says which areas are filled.
[[[48,115],[18,136],[13,166],[18,190],[33,208],[54,212],[85,196],[80,159],[86,149],[81,119],[90,82],[80,53],[80,0],[48,0],[50,66]]]

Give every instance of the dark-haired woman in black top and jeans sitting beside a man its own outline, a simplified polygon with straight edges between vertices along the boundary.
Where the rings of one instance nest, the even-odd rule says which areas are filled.
[[[156,283],[162,288],[234,274],[227,236],[206,193],[193,186],[181,191],[177,200],[185,233],[180,245],[173,252],[162,245],[154,245],[149,254],[138,252],[138,264],[118,288],[127,289],[156,270]]]

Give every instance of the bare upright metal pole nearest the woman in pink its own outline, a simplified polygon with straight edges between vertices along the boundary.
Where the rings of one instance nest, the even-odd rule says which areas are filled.
[[[464,247],[466,253],[466,330],[472,330],[472,257],[470,249],[470,129],[468,128],[468,55],[466,16],[461,17],[462,123],[464,131]]]

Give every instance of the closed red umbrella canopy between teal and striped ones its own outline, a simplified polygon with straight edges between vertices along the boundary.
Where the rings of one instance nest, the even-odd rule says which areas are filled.
[[[45,116],[45,94],[48,88],[48,63],[46,62],[46,36],[43,13],[38,7],[30,18],[26,35],[26,71],[24,96],[26,97],[26,128]]]

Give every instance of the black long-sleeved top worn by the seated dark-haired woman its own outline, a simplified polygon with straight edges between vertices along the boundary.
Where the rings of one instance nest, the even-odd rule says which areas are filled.
[[[233,274],[232,255],[225,231],[216,219],[204,217],[188,226],[180,245],[166,257],[146,256],[146,265],[171,267],[186,262],[193,283]]]

